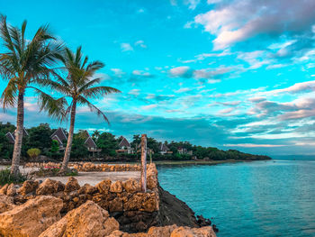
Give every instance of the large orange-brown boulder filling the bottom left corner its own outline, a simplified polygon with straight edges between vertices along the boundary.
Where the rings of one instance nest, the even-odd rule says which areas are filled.
[[[0,214],[0,236],[37,237],[57,222],[62,200],[53,196],[37,196],[11,211]]]

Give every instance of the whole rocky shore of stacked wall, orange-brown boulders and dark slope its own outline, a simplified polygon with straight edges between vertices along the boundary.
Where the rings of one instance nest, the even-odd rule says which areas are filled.
[[[128,168],[130,169],[130,168]],[[148,165],[148,192],[139,181],[103,180],[80,187],[53,179],[0,189],[0,236],[215,236],[209,220],[197,220],[184,202],[157,181]]]

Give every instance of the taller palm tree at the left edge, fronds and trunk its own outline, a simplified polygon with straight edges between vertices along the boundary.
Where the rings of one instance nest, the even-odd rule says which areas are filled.
[[[62,99],[58,105],[51,96],[40,88],[51,73],[51,68],[62,50],[62,44],[49,33],[48,25],[41,26],[31,41],[25,39],[26,21],[21,29],[6,23],[6,16],[0,15],[0,39],[5,52],[0,53],[0,76],[6,80],[7,86],[1,96],[4,110],[17,105],[14,154],[11,173],[19,173],[20,156],[24,124],[24,96],[28,88],[38,95],[40,110],[49,111],[50,115],[58,116]],[[55,103],[55,104],[54,104]]]

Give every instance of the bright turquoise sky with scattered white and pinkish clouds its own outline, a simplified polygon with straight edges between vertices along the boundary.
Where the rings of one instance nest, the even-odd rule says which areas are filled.
[[[76,130],[271,156],[315,154],[314,12],[313,0],[0,0],[9,23],[28,21],[29,38],[49,23],[121,90],[94,101],[111,125],[80,107]],[[26,127],[68,126],[26,96]]]

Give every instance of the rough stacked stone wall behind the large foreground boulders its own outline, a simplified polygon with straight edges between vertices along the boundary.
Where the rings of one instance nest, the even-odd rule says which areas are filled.
[[[106,169],[104,165],[93,165],[92,163],[76,165],[76,169],[86,171]],[[119,168],[119,165],[115,165],[110,167],[121,171],[138,169],[139,166],[124,165]],[[95,187],[88,184],[80,187],[76,178],[70,177],[66,185],[49,178],[42,183],[28,180],[21,186],[5,185],[0,189],[0,194],[12,196],[14,205],[23,205],[36,196],[55,196],[63,201],[61,214],[67,214],[91,200],[107,210],[120,223],[121,231],[142,232],[157,224],[159,195],[155,164],[148,165],[147,180],[147,193],[140,191],[139,181],[133,178],[124,182],[112,182],[110,179],[105,179]]]

